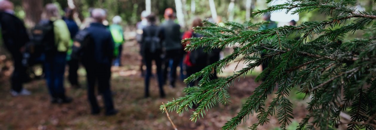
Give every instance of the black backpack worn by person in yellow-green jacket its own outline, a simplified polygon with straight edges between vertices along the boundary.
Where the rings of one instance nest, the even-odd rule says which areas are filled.
[[[27,45],[27,50],[35,55],[40,56],[45,53],[46,58],[53,56],[57,51],[55,44],[54,21],[41,21],[31,30],[31,42]]]

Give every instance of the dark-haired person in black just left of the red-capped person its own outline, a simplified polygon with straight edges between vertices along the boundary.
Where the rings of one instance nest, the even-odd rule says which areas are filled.
[[[145,97],[149,97],[150,76],[152,74],[152,60],[155,60],[157,66],[159,94],[162,98],[165,97],[163,91],[163,76],[162,76],[162,44],[163,29],[155,25],[155,15],[151,14],[147,17],[149,26],[143,29],[143,37],[141,41],[141,55],[146,64],[145,75]]]

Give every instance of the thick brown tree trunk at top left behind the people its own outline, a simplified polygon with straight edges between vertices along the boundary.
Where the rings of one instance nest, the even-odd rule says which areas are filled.
[[[26,13],[24,19],[26,27],[33,27],[41,21],[43,0],[22,0],[22,6]]]

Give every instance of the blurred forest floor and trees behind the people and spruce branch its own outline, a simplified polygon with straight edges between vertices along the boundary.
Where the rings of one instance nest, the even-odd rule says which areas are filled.
[[[219,22],[235,21],[244,22],[251,20],[253,22],[262,21],[261,17],[251,17],[251,12],[258,9],[266,9],[266,0],[11,0],[15,5],[15,14],[24,20],[26,27],[31,29],[35,23],[41,20],[41,14],[44,5],[47,3],[56,3],[63,9],[74,8],[76,10],[76,21],[80,23],[86,17],[89,17],[90,8],[103,8],[108,12],[107,20],[110,21],[115,15],[123,18],[123,27],[126,31],[125,35],[135,32],[135,24],[141,20],[141,12],[146,10],[147,2],[150,3],[150,11],[156,14],[159,21],[163,20],[163,14],[166,8],[173,8],[176,12],[179,10],[183,15],[179,24],[183,26],[182,31],[190,28],[190,23],[195,17],[202,19],[213,18]],[[176,3],[177,2],[177,3]],[[372,0],[358,0],[356,8],[360,11],[372,11],[376,9]],[[183,17],[181,17],[183,16]],[[214,18],[217,17],[217,18]],[[317,11],[299,14],[300,24],[304,21],[327,20],[326,15]],[[279,26],[288,23],[279,23]],[[362,35],[358,31],[349,35],[347,38],[356,38]],[[33,81],[25,85],[26,88],[33,92],[33,95],[27,98],[11,97],[9,94],[9,76],[12,71],[12,63],[9,54],[0,40],[0,129],[161,129],[172,128],[170,122],[164,113],[159,110],[162,102],[167,102],[173,98],[182,96],[181,90],[185,85],[180,82],[177,88],[167,89],[166,99],[142,98],[143,95],[143,78],[138,71],[140,56],[138,52],[138,44],[133,38],[128,38],[124,44],[123,64],[121,68],[113,69],[112,89],[117,93],[114,96],[115,106],[120,110],[120,114],[115,117],[94,117],[88,113],[89,104],[86,100],[86,89],[74,90],[67,89],[68,95],[74,97],[72,104],[62,106],[53,106],[49,104],[47,88],[41,80]],[[225,51],[228,51],[227,49]],[[228,54],[225,52],[224,54]],[[231,68],[233,67],[233,68]],[[233,74],[234,65],[228,65],[228,72]],[[227,69],[227,68],[226,68]],[[240,68],[241,69],[241,68]],[[214,108],[212,112],[208,112],[204,119],[196,124],[190,121],[190,112],[183,115],[170,113],[171,118],[177,124],[179,129],[219,129],[226,121],[236,115],[240,110],[241,104],[246,98],[252,94],[254,88],[259,83],[254,82],[255,75],[250,74],[244,80],[237,83],[237,87],[230,90],[232,104],[220,105]],[[85,71],[83,68],[79,70],[79,81],[84,86]],[[65,83],[68,86],[68,83]],[[156,97],[156,82],[152,81],[151,90]],[[291,129],[306,114],[306,100],[304,95],[291,92],[294,106],[294,121]],[[152,96],[152,97],[153,97]],[[300,111],[299,111],[300,110]],[[93,118],[94,117],[94,118]],[[250,119],[241,125],[239,129],[246,129],[252,125],[257,119]],[[147,124],[147,125],[146,125]],[[261,127],[263,129],[278,129],[278,121],[276,118],[271,119],[271,123]]]

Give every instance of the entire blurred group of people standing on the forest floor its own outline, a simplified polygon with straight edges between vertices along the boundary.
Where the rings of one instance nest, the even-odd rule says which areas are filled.
[[[95,95],[95,84],[98,83],[97,90],[103,95],[105,114],[114,115],[117,110],[114,108],[110,79],[111,66],[121,65],[122,44],[125,41],[123,27],[120,26],[121,17],[115,16],[112,25],[105,26],[103,21],[106,20],[106,11],[100,8],[92,9],[90,18],[86,21],[89,24],[83,24],[84,27],[80,30],[73,14],[74,10],[65,9],[65,15],[62,17],[55,4],[47,4],[41,22],[27,31],[23,21],[14,15],[13,3],[9,0],[0,1],[1,34],[14,60],[11,94],[13,96],[31,94],[22,87],[23,79],[26,79],[26,68],[32,65],[25,60],[26,52],[32,55],[33,60],[42,61],[51,103],[72,102],[73,99],[65,94],[65,67],[68,65],[68,80],[72,88],[80,88],[77,70],[81,63],[86,69],[91,113],[100,113]],[[203,52],[203,49],[194,52],[184,51],[185,45],[182,44],[182,39],[201,37],[201,35],[194,33],[193,30],[182,33],[180,25],[175,21],[173,9],[165,10],[164,21],[160,26],[156,24],[157,18],[154,14],[143,12],[141,17],[142,21],[136,25],[140,34],[136,39],[140,43],[142,63],[146,65],[145,97],[150,96],[153,60],[156,64],[159,94],[162,98],[166,96],[164,85],[168,83],[171,88],[175,87],[179,65],[181,70],[186,71],[187,77],[219,60],[220,50],[211,53]],[[196,18],[192,26],[202,26],[202,21]],[[216,74],[212,78],[217,78]],[[190,83],[188,86],[193,85],[194,83]]]

